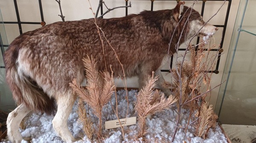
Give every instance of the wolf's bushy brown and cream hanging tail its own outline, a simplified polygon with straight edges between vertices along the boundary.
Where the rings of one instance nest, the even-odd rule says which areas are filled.
[[[26,76],[21,70],[17,70],[18,51],[19,48],[10,45],[4,56],[6,81],[14,100],[18,105],[23,104],[28,109],[51,114],[55,110],[54,99],[49,98],[35,80]]]

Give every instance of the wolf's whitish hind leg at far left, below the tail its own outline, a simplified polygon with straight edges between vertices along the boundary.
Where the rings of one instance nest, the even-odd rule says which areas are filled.
[[[20,104],[15,110],[9,113],[6,124],[7,124],[7,135],[12,143],[20,143],[22,140],[19,127],[22,119],[31,110],[26,108],[25,105]]]

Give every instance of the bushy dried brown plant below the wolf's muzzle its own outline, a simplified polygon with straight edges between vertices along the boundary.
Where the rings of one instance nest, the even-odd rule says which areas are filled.
[[[205,71],[209,70],[209,64],[203,62],[206,53],[202,49],[203,47],[195,51],[194,46],[189,46],[191,60],[177,62],[176,68],[181,70],[180,75],[175,70],[172,70],[173,84],[166,83],[166,85],[172,87],[174,95],[178,99],[178,108],[182,105],[183,108],[191,109],[191,111],[198,109],[200,106],[198,106],[197,101],[200,98],[203,100],[206,96],[206,94],[200,94],[202,93],[200,90],[202,82],[207,85],[207,89],[210,89],[210,76],[205,73]],[[180,96],[180,90],[182,91],[182,96]]]

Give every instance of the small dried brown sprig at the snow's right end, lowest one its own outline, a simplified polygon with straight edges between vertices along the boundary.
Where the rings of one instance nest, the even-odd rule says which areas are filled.
[[[209,129],[215,128],[218,116],[213,112],[212,105],[208,107],[206,102],[202,104],[196,115],[198,116],[196,135],[205,138]]]

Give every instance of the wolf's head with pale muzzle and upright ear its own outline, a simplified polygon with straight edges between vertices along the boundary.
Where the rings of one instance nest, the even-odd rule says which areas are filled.
[[[203,17],[195,11],[193,8],[184,6],[185,2],[177,3],[177,6],[173,9],[173,17],[178,22],[182,31],[182,36],[185,40],[192,38],[193,36],[211,36],[218,31],[218,28],[205,23]]]

